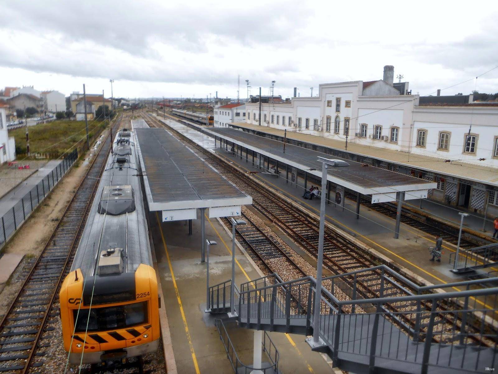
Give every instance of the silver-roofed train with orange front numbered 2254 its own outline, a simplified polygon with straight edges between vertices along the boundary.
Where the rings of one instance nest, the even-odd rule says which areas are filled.
[[[60,291],[73,364],[155,352],[159,300],[132,132],[117,133],[71,272]]]

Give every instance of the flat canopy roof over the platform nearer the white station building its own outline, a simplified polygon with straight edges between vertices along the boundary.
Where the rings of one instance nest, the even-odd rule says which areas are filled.
[[[341,159],[322,152],[286,144],[283,152],[283,142],[264,138],[242,130],[232,128],[203,129],[218,138],[233,142],[248,148],[279,163],[305,171],[321,179],[322,163],[318,157],[339,159],[350,166],[345,168],[330,168],[327,180],[339,186],[344,186],[363,194],[372,194],[372,202],[393,201],[396,192],[405,192],[404,199],[427,197],[427,191],[436,188],[437,184],[413,178],[389,170],[376,168],[366,164]]]

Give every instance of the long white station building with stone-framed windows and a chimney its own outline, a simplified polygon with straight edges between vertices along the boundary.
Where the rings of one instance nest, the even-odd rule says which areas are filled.
[[[295,97],[294,90],[290,101],[248,102],[246,120],[232,123],[275,139],[273,129],[287,130],[287,139],[304,147],[436,182],[433,200],[498,215],[498,102],[439,91],[420,97],[393,77],[386,65],[382,79],[320,84],[316,97]],[[217,110],[215,127],[231,124],[216,122]]]

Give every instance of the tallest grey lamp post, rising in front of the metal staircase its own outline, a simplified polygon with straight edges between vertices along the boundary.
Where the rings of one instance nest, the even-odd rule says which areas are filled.
[[[320,341],[320,311],[321,311],[321,295],[322,295],[322,268],[323,268],[323,236],[325,232],[325,189],[327,188],[327,169],[343,168],[349,166],[346,161],[326,159],[318,157],[318,161],[322,163],[322,193],[320,199],[320,231],[318,236],[318,258],[316,263],[316,292],[315,306],[313,313],[313,338],[307,339],[308,344],[314,347],[323,346],[325,343]]]

